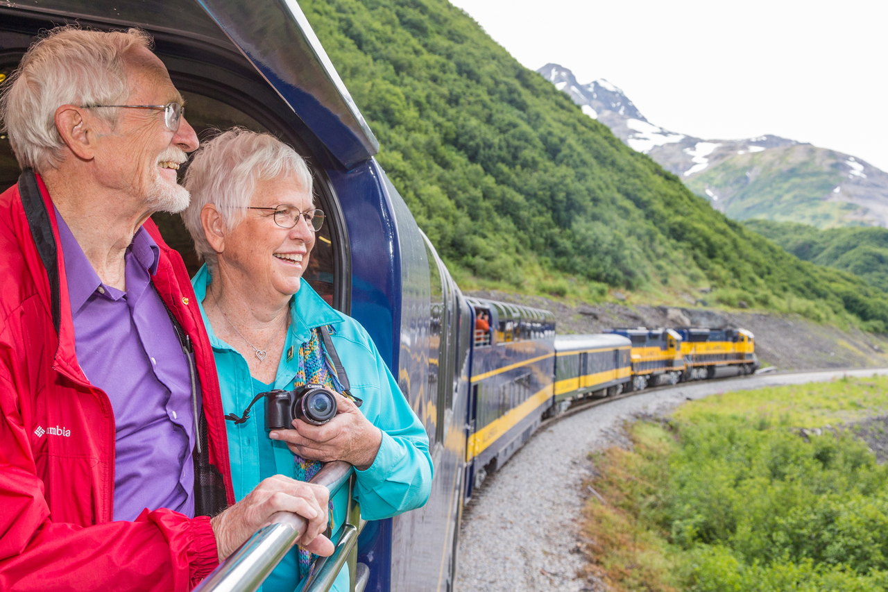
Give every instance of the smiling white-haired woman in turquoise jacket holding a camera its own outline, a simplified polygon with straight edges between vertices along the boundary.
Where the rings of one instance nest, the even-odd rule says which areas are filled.
[[[192,283],[216,357],[237,499],[266,477],[308,480],[322,462],[346,460],[356,469],[361,516],[422,506],[432,485],[423,425],[361,324],[301,281],[324,218],[305,161],[274,136],[235,128],[202,146],[185,186],[191,204],[182,217],[205,260]],[[352,398],[341,395],[343,382]],[[250,408],[254,398],[305,384],[336,393],[336,416],[266,433],[264,401]],[[331,499],[334,539],[345,523],[345,489]],[[313,558],[291,549],[265,592],[300,588]],[[348,588],[344,568],[333,589]]]

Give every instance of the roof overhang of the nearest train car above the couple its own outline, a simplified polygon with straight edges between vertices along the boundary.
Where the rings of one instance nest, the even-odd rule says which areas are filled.
[[[351,167],[379,151],[296,0],[20,0],[14,6],[17,14],[61,17],[59,24],[135,26],[158,41],[175,36],[213,52],[236,52],[340,163]]]

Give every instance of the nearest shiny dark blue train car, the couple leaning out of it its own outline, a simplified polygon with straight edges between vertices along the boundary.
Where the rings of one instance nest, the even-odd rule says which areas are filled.
[[[363,324],[424,420],[435,480],[420,510],[369,523],[367,590],[453,588],[463,507],[472,310],[374,155],[378,142],[296,0],[23,0],[0,5],[0,84],[41,30],[139,27],[186,97],[199,133],[242,125],[306,156],[327,212],[305,279]],[[0,182],[19,176],[0,136]],[[196,268],[178,218],[158,215]],[[510,317],[511,318],[511,317]],[[352,560],[353,561],[353,560]],[[354,571],[352,572],[354,573]]]

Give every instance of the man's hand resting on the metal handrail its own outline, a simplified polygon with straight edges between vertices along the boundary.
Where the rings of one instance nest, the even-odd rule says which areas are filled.
[[[329,556],[333,543],[321,534],[327,529],[329,491],[282,475],[263,480],[231,508],[210,520],[216,535],[219,561],[234,553],[253,532],[268,524],[275,512],[292,512],[308,521],[297,544],[315,555]]]

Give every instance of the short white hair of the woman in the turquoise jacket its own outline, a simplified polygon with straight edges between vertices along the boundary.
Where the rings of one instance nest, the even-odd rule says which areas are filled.
[[[202,144],[183,181],[191,204],[182,212],[182,220],[194,239],[198,258],[216,266],[216,252],[201,223],[204,205],[214,204],[226,230],[231,231],[243,220],[243,208],[250,206],[258,181],[289,176],[312,194],[312,173],[305,159],[269,133],[233,127]]]

